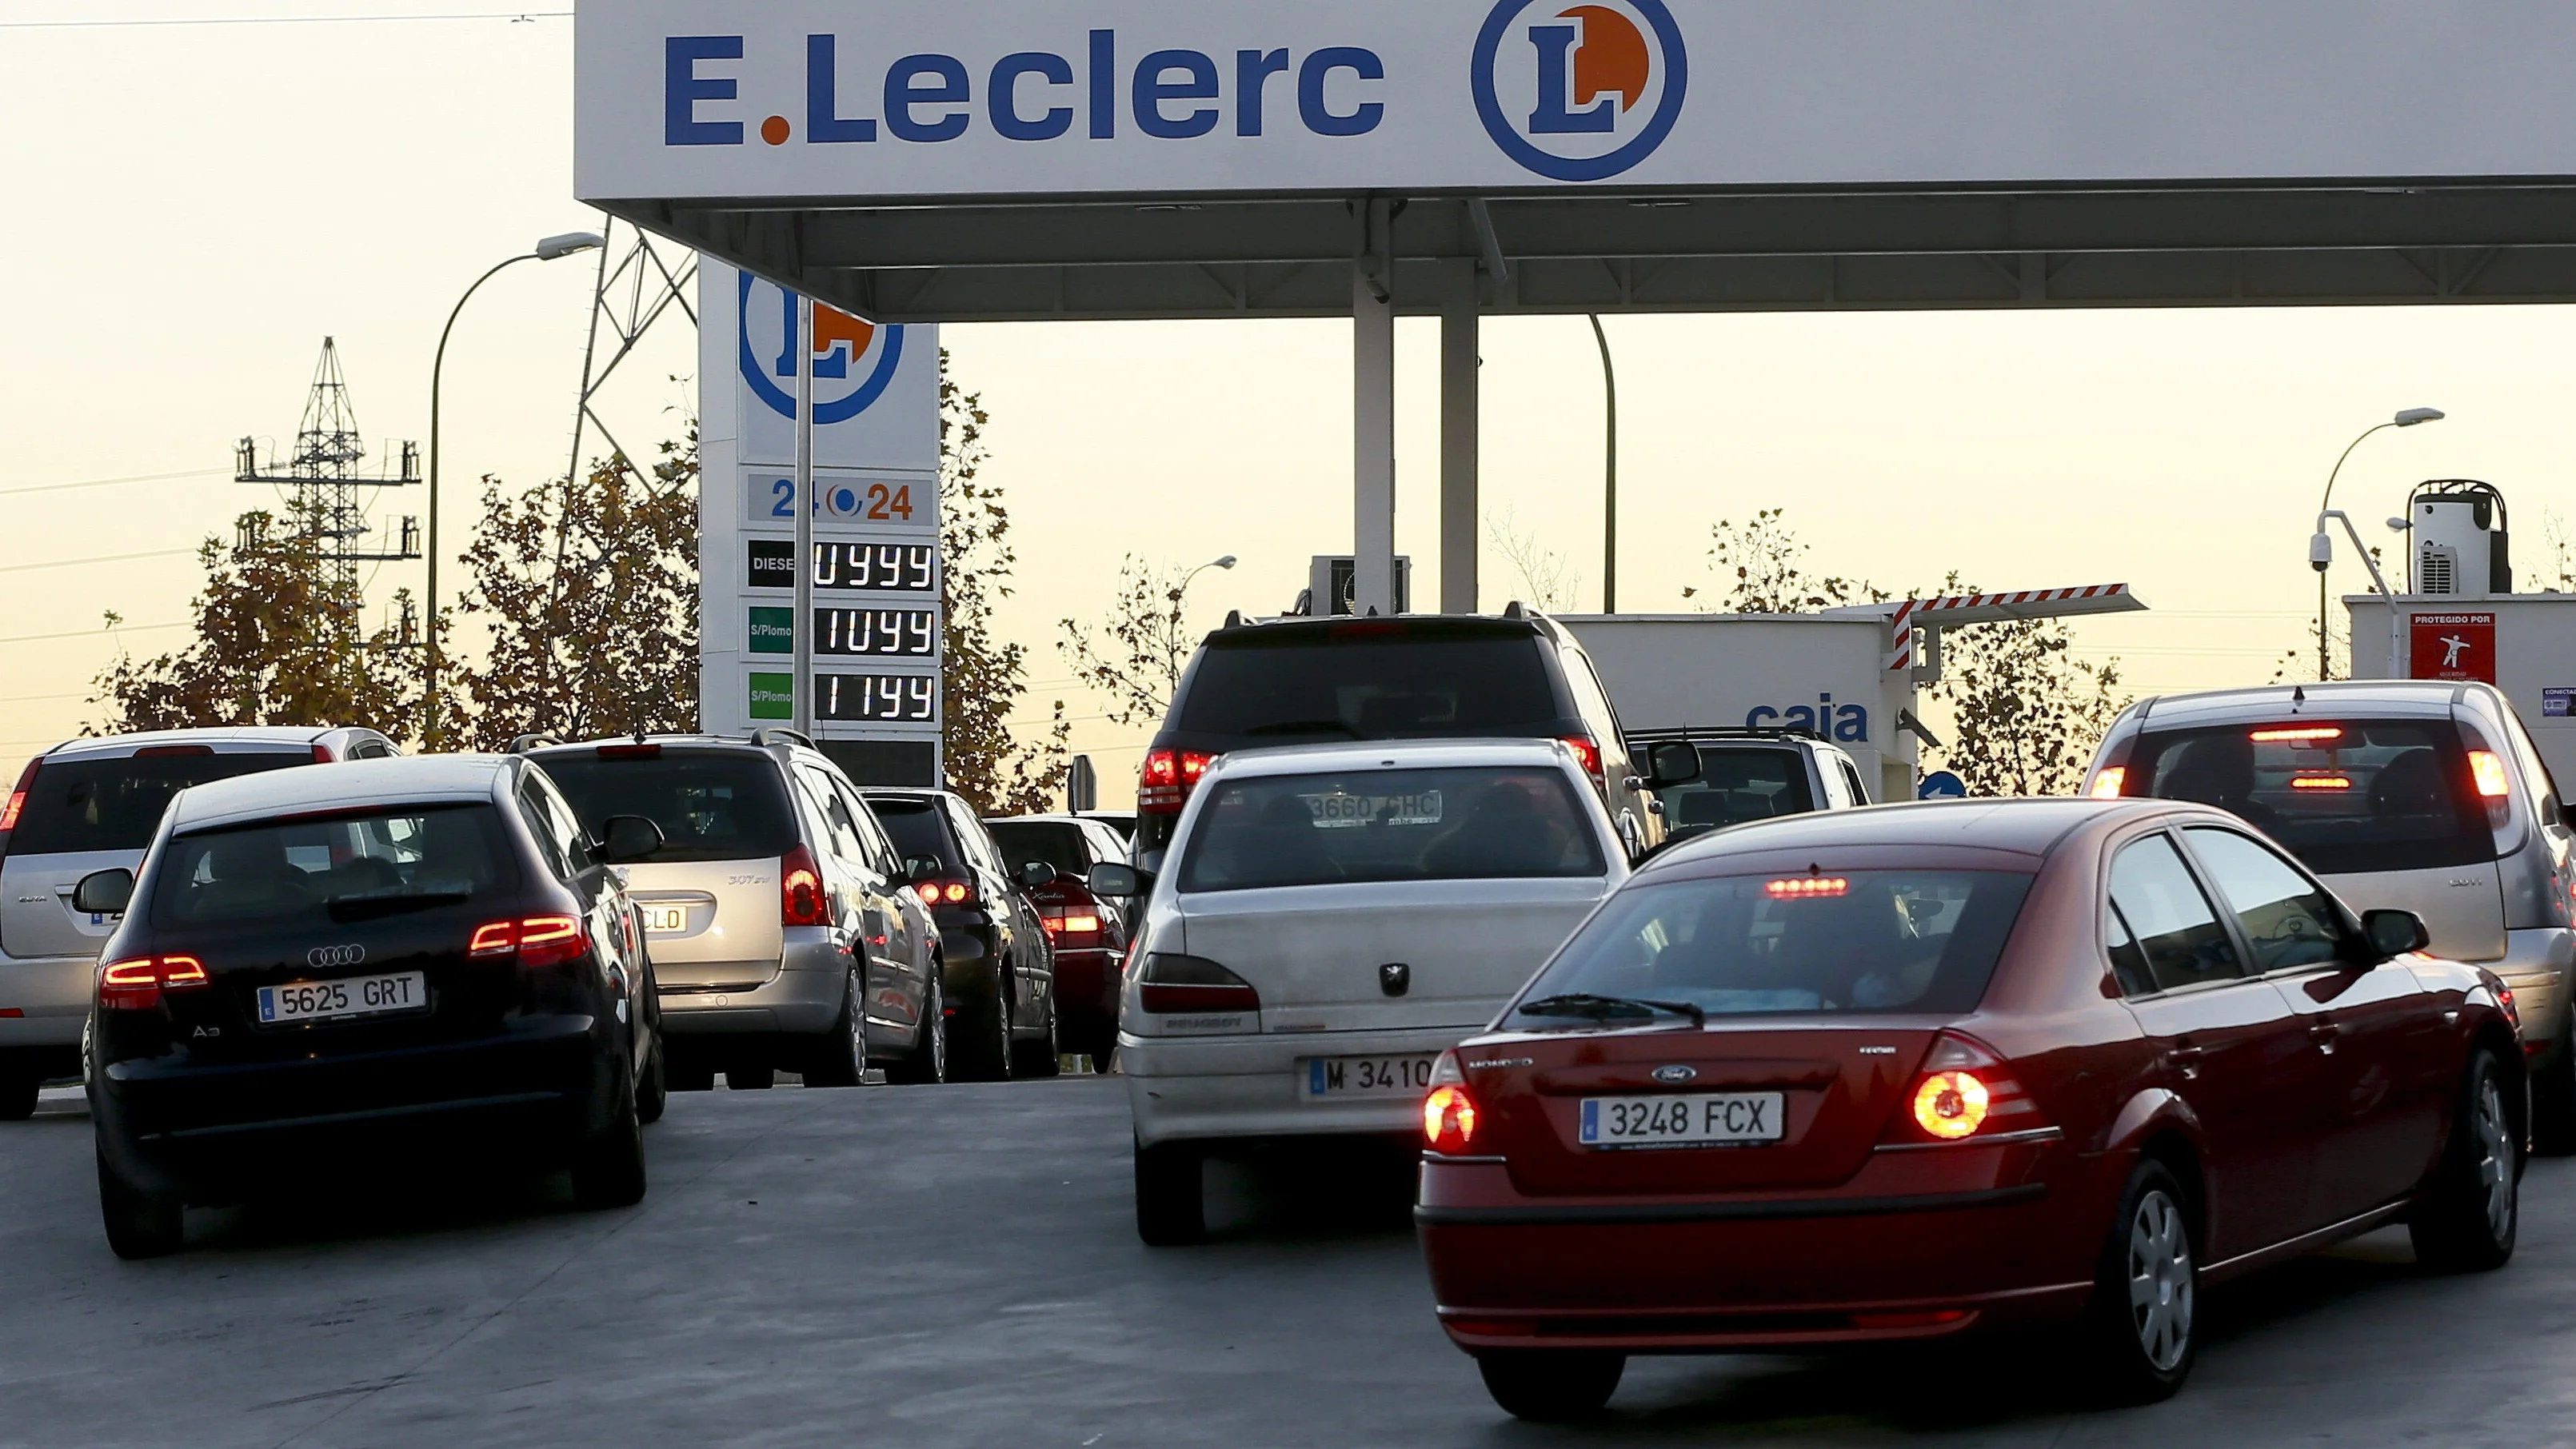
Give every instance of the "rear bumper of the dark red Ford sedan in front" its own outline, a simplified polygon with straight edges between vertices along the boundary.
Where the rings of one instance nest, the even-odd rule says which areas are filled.
[[[1880,1153],[1832,1192],[1533,1199],[1425,1156],[1414,1220],[1468,1351],[1940,1338],[2081,1313],[2125,1166],[2050,1143]]]

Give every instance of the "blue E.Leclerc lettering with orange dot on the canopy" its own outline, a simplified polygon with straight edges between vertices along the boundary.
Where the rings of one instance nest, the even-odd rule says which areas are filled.
[[[855,46],[853,46],[855,49]],[[1126,59],[1136,54],[1133,64]],[[806,36],[804,121],[773,113],[760,139],[783,147],[956,142],[989,126],[1005,142],[1056,142],[1077,124],[1105,142],[1133,126],[1144,136],[1188,142],[1231,121],[1234,136],[1298,126],[1316,136],[1365,136],[1386,118],[1386,62],[1363,46],[1136,49],[1118,31],[1090,31],[1079,62],[1056,51],[1012,51],[989,64],[951,54],[884,62],[881,85],[842,85],[873,62],[842,64],[842,36]],[[739,147],[747,139],[739,77],[742,36],[667,36],[662,144]],[[732,111],[732,116],[729,116]]]

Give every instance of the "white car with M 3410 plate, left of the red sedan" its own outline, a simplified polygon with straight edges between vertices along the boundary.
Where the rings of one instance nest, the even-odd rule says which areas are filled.
[[[1437,1053],[1476,1035],[1628,852],[1561,741],[1370,741],[1226,754],[1149,896],[1118,1001],[1136,1230],[1206,1233],[1229,1140],[1419,1132]]]

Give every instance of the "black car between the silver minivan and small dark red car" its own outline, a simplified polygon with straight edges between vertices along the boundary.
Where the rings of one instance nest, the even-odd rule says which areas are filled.
[[[974,806],[948,790],[866,795],[904,860],[938,865],[912,891],[940,932],[951,1071],[966,1081],[1056,1076],[1056,960],[1028,898],[1056,870],[1012,875]]]

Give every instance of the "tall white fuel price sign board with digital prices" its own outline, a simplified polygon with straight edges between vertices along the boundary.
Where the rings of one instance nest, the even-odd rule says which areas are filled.
[[[940,741],[940,342],[814,309],[814,734]],[[796,299],[698,268],[698,682],[708,731],[796,715]]]

